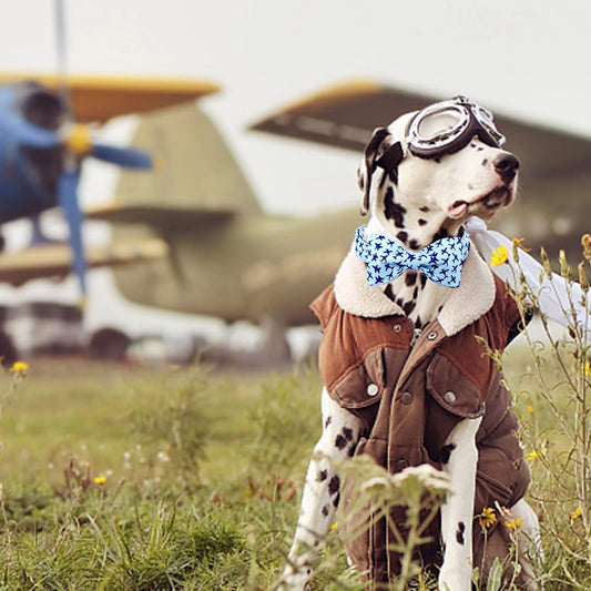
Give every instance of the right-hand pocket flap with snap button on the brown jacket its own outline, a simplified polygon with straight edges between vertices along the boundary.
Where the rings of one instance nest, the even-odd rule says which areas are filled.
[[[427,367],[427,390],[439,406],[458,417],[476,418],[485,412],[480,388],[438,353]]]

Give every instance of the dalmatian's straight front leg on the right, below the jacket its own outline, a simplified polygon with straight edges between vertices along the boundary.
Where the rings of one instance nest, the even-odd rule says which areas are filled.
[[[472,580],[472,521],[478,449],[476,432],[482,418],[463,419],[441,449],[441,465],[449,476],[451,492],[441,507],[444,564],[440,591],[470,591]]]

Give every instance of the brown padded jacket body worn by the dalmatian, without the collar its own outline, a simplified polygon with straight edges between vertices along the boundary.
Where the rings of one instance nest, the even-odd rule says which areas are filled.
[[[367,454],[391,473],[408,466],[440,467],[440,450],[463,418],[483,416],[477,435],[479,450],[475,514],[495,501],[511,507],[524,493],[529,470],[517,438],[518,422],[502,386],[491,350],[502,350],[519,312],[505,285],[495,278],[492,306],[456,334],[439,320],[429,324],[411,347],[412,326],[401,315],[366,318],[345,312],[328,287],[312,309],[323,328],[319,368],[330,397],[364,425],[356,454]],[[345,487],[342,503],[354,495]],[[399,571],[399,556],[387,552],[384,522],[355,540],[348,554],[373,582],[388,581]],[[496,533],[497,532],[497,533]],[[438,563],[438,524],[434,543],[421,548],[421,559]],[[507,553],[507,532],[473,527],[475,565],[485,571],[495,556]],[[482,553],[487,557],[482,561]]]

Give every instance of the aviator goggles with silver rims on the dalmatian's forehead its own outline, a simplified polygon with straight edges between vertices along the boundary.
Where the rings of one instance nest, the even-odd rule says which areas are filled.
[[[408,125],[406,144],[416,156],[431,159],[458,152],[475,135],[492,147],[505,143],[490,111],[456,96],[419,111]]]

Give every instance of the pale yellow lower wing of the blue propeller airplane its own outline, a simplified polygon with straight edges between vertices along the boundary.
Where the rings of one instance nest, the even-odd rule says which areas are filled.
[[[115,241],[106,246],[86,247],[90,267],[115,266],[166,256],[167,245],[159,238]],[[43,244],[0,254],[0,282],[20,286],[30,279],[65,277],[72,271],[68,244]]]

